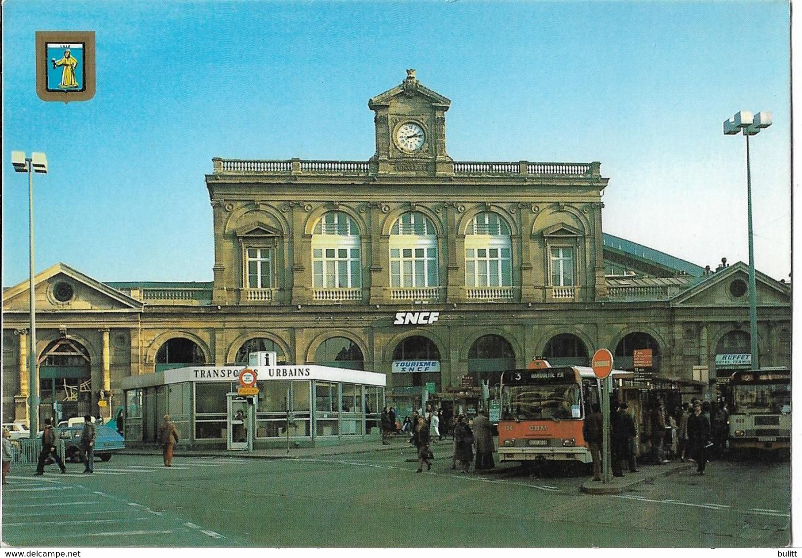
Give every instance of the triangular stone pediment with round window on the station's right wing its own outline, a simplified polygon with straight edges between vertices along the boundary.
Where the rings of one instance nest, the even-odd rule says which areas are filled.
[[[749,266],[739,261],[670,300],[672,306],[748,306]],[[791,287],[755,270],[759,306],[791,307]]]

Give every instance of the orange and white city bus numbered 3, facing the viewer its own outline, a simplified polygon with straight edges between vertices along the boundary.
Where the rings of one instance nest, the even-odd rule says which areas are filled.
[[[614,379],[632,375],[612,374]],[[500,396],[500,461],[593,462],[582,436],[585,416],[593,403],[601,404],[601,384],[592,368],[508,370],[501,374]]]

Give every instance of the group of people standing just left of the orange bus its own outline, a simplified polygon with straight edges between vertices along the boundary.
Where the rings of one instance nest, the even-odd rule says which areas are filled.
[[[405,417],[399,423],[395,409],[384,407],[381,418],[382,443],[388,444],[390,435],[409,435],[411,443],[418,451],[418,469],[423,472],[431,470],[431,461],[434,452],[431,446],[435,441],[447,439],[448,433],[452,435],[452,469],[460,467],[460,471],[468,473],[471,462],[475,460],[474,470],[485,471],[496,467],[493,461],[492,426],[486,413],[480,411],[471,422],[465,414],[457,414],[451,420],[446,420],[444,410],[436,412],[427,406],[425,411],[419,409],[412,411],[411,417]]]

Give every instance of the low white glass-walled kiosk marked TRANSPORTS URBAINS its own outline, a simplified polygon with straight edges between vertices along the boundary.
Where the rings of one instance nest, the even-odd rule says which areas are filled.
[[[385,374],[330,366],[188,366],[124,378],[125,439],[158,442],[164,414],[193,447],[314,447],[379,439]]]

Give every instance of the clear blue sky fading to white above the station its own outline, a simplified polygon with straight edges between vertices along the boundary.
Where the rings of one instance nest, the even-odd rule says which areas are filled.
[[[101,281],[211,281],[212,157],[367,160],[367,99],[407,68],[452,99],[455,160],[602,162],[605,232],[715,266],[747,261],[735,111],[751,142],[755,264],[791,271],[786,2],[3,4],[2,285],[63,261]],[[44,103],[36,30],[95,30],[97,93]]]

